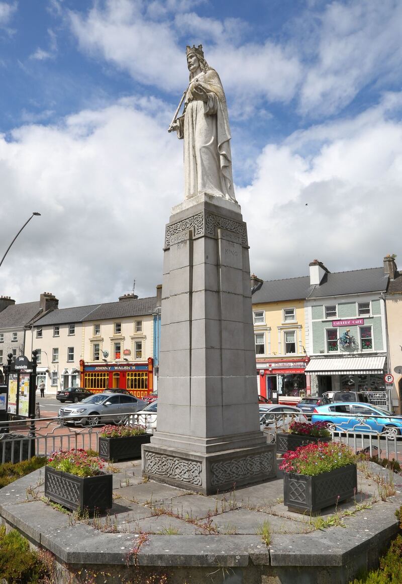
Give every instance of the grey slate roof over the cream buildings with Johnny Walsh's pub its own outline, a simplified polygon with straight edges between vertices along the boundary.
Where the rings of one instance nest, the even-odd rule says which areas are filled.
[[[58,308],[35,322],[35,326],[72,324],[74,322],[102,321],[105,319],[139,317],[152,314],[157,297],[120,300],[105,304],[90,304],[73,308]],[[1,312],[0,312],[1,315]]]

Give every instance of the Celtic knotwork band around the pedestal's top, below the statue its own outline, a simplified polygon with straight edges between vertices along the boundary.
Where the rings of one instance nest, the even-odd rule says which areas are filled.
[[[171,246],[172,237],[174,235],[182,233],[183,231],[192,230],[194,238],[201,237],[202,235],[216,237],[217,228],[237,234],[241,238],[241,245],[248,245],[247,231],[243,223],[239,223],[233,219],[228,219],[227,217],[221,217],[221,215],[214,215],[212,213],[201,211],[196,215],[186,217],[181,221],[176,221],[176,223],[171,223],[166,226],[165,248]]]

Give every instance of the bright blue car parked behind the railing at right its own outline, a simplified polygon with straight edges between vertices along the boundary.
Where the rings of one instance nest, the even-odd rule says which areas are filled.
[[[328,422],[330,429],[349,432],[384,432],[393,438],[402,432],[402,416],[377,405],[335,402],[314,408],[311,422]]]

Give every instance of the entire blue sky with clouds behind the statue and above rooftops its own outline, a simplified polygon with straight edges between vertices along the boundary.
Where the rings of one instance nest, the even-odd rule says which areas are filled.
[[[400,30],[397,0],[0,1],[0,249],[41,212],[1,293],[66,306],[116,300],[136,279],[154,294],[183,189],[166,128],[193,43],[226,91],[252,270],[400,254]]]

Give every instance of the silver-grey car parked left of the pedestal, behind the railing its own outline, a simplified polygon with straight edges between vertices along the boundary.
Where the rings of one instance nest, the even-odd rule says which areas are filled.
[[[98,426],[99,423],[103,422],[119,424],[128,422],[129,414],[144,409],[146,405],[147,402],[134,397],[134,395],[109,391],[93,394],[83,399],[79,404],[60,408],[58,415],[60,418],[64,418],[65,422],[74,423],[75,426],[84,426],[86,423],[89,426]]]

